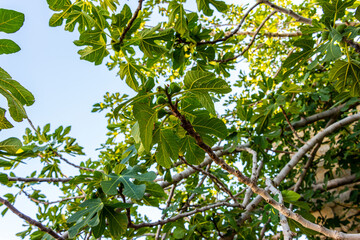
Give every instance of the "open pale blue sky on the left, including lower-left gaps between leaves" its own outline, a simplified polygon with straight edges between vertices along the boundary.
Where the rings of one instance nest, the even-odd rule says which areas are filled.
[[[96,159],[95,149],[106,140],[106,119],[102,113],[91,113],[92,105],[101,101],[107,91],[128,94],[133,91],[116,76],[116,71],[109,71],[104,64],[94,66],[80,60],[79,48],[73,44],[78,33],[66,32],[63,27],[50,28],[48,21],[53,12],[45,0],[0,0],[0,8],[25,14],[24,26],[18,32],[0,33],[0,38],[12,39],[21,47],[18,53],[0,55],[0,66],[34,94],[35,103],[26,108],[30,119],[35,126],[51,123],[52,130],[71,125],[70,135],[77,138],[87,153],[86,157],[74,161]],[[0,104],[7,108],[2,97]],[[26,121],[12,123],[13,129],[1,131],[1,140],[11,136],[21,138],[29,127]],[[36,166],[28,163],[17,175],[25,176],[34,168]],[[0,195],[7,192],[9,188],[0,186]],[[25,204],[29,201],[20,196],[15,206],[35,218],[35,205]],[[15,234],[25,230],[23,223],[11,212],[0,216],[0,239],[18,239]]]

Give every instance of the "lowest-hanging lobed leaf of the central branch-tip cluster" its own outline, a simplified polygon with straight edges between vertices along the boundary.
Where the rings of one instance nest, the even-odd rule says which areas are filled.
[[[170,158],[173,160],[178,158],[179,148],[178,138],[171,130],[160,130],[156,162],[165,168],[170,168],[172,166]]]

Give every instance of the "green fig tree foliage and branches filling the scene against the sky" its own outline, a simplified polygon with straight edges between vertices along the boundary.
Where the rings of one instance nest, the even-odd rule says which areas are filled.
[[[70,127],[30,122],[22,143],[0,142],[0,183],[39,206],[37,220],[18,214],[29,223],[18,236],[360,238],[347,234],[360,231],[359,2],[229,2],[47,0],[49,25],[79,32],[80,58],[106,61],[133,93],[106,93],[93,106],[109,130],[98,159],[67,160],[84,154]],[[23,21],[0,9],[0,31]],[[0,44],[1,54],[19,50]],[[11,117],[27,118],[32,94],[3,69],[0,79]],[[1,129],[12,127],[0,113]],[[29,159],[44,167],[27,178],[11,172]],[[61,162],[78,175],[67,177]],[[49,202],[41,182],[62,200]],[[18,194],[0,197],[3,215],[16,213]],[[321,214],[331,206],[341,211]]]

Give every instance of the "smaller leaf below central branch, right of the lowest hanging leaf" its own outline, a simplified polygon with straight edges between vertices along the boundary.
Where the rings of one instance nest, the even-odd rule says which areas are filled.
[[[205,157],[204,150],[202,150],[190,136],[181,139],[180,152],[185,153],[185,159],[190,164],[200,164]]]

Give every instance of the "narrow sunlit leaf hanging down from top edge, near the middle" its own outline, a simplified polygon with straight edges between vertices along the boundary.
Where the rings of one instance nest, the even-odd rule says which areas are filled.
[[[175,22],[175,31],[185,35],[189,29],[186,20],[186,12],[182,3],[172,1],[169,4],[169,25]]]

